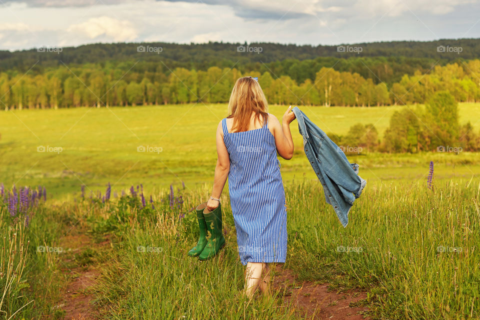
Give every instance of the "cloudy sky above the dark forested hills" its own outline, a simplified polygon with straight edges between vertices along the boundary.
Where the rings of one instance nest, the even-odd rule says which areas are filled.
[[[480,38],[480,0],[0,0],[0,49]]]

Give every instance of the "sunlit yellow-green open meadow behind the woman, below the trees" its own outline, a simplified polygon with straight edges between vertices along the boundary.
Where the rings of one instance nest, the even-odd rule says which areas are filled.
[[[325,132],[344,134],[357,122],[374,123],[380,135],[388,126],[391,107],[300,107]],[[285,106],[271,105],[279,119]],[[104,190],[144,183],[156,190],[185,183],[194,189],[213,182],[216,161],[215,130],[227,115],[226,104],[186,104],[0,113],[0,181],[5,185],[47,187],[54,197],[79,192],[80,185]],[[459,104],[460,122],[480,127],[480,104]],[[295,153],[280,158],[285,184],[296,178],[316,179],[302,150],[296,121],[290,125]],[[37,152],[38,146],[52,152]],[[139,146],[151,152],[137,152]],[[61,152],[54,152],[61,147]],[[158,152],[160,151],[161,152]],[[480,172],[477,154],[349,155],[369,181],[420,179],[435,161],[438,177],[471,177]]]

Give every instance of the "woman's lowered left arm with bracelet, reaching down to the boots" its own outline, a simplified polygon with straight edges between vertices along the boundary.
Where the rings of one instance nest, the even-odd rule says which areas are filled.
[[[215,199],[219,199],[221,191],[225,186],[226,178],[228,177],[228,171],[230,170],[230,156],[223,142],[223,129],[221,127],[221,121],[216,128],[216,153],[218,158],[216,160],[215,175],[213,178],[213,188],[211,190],[211,196]],[[206,207],[209,210],[213,210],[218,206],[217,200],[208,198]]]

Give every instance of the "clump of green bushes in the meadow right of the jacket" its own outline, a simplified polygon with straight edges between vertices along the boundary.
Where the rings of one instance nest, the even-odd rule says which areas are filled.
[[[409,152],[436,151],[454,152],[480,151],[480,132],[476,133],[468,121],[458,121],[458,105],[448,91],[432,94],[425,106],[405,106],[395,111],[383,140],[371,123],[356,123],[348,133],[340,136],[327,135],[345,153],[365,151]]]

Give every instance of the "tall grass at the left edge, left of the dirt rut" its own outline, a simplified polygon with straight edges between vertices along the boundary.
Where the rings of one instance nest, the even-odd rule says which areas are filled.
[[[54,315],[63,277],[58,254],[44,248],[57,245],[62,211],[43,202],[17,203],[13,215],[12,204],[4,202],[12,194],[0,197],[0,319]]]

